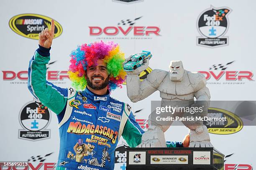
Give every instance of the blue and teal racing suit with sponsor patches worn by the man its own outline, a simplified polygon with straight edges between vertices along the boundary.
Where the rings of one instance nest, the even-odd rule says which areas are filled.
[[[129,104],[89,89],[76,91],[46,81],[50,48],[39,46],[28,68],[28,89],[59,120],[60,149],[56,169],[113,170],[115,147],[123,136],[130,147],[141,143],[144,131]],[[182,147],[168,142],[168,147]]]

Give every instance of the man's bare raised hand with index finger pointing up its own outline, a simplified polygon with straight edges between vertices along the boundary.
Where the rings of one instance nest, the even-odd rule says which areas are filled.
[[[54,38],[54,20],[51,20],[51,30],[48,30],[48,28],[45,28],[42,30],[41,33],[39,33],[39,45],[44,48],[50,48],[52,40]]]

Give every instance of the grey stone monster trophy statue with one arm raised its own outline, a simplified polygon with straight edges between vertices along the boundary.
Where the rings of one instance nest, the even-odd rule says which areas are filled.
[[[136,58],[143,56],[142,54],[135,55],[137,55]],[[131,61],[135,55],[126,59],[125,63]],[[169,71],[154,69],[146,79],[140,81],[138,74],[144,71],[148,64],[149,59],[146,58],[143,60],[143,64],[135,69],[125,69],[127,95],[132,102],[141,101],[155,91],[160,91],[161,107],[168,104],[174,107],[195,107],[201,104],[200,106],[203,105],[204,111],[200,115],[193,116],[207,116],[207,109],[210,106],[210,91],[206,87],[206,79],[203,74],[184,70],[182,61],[171,61]],[[141,144],[138,147],[166,147],[164,132],[169,129],[173,121],[168,121],[167,124],[156,121],[154,119],[155,114],[156,112],[152,112],[149,115],[148,131],[143,134]],[[179,114],[181,113],[174,113],[170,116],[175,117]],[[213,147],[203,121],[182,121],[182,123],[189,128],[189,147]]]

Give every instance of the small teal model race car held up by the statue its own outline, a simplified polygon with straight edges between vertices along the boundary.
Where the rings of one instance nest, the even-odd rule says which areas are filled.
[[[143,61],[150,59],[152,54],[150,51],[142,51],[142,53],[133,54],[131,59],[124,64],[123,69],[125,71],[133,71],[143,65]]]

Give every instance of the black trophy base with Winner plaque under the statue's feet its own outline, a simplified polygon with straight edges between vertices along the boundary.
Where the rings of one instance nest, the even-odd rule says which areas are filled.
[[[214,147],[131,147],[126,170],[224,170],[224,155]]]

